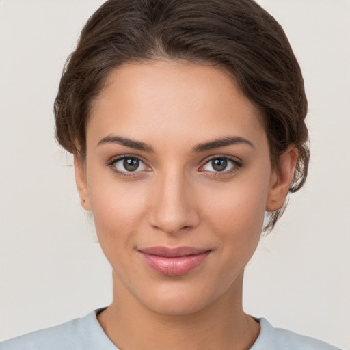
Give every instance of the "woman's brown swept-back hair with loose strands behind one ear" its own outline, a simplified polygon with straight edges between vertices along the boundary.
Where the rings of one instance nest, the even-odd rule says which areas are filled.
[[[87,21],[68,57],[55,99],[56,138],[85,159],[92,100],[109,72],[131,61],[186,59],[230,72],[264,115],[273,168],[295,145],[290,192],[308,170],[307,100],[297,59],[282,27],[252,0],[109,0]],[[269,213],[271,230],[284,211]]]

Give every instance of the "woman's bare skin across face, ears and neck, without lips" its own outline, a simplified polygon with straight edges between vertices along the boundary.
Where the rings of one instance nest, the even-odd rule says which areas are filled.
[[[258,337],[260,325],[242,308],[243,271],[265,211],[286,198],[297,159],[291,145],[271,170],[261,120],[234,81],[212,66],[159,60],[124,64],[109,75],[75,173],[113,269],[113,302],[98,321],[120,349],[249,349]],[[240,139],[193,152],[227,137]],[[124,155],[141,160],[136,171],[127,173],[118,161]],[[222,157],[231,160],[219,172],[211,160]],[[138,252],[156,245],[211,254],[170,277],[152,271]]]

